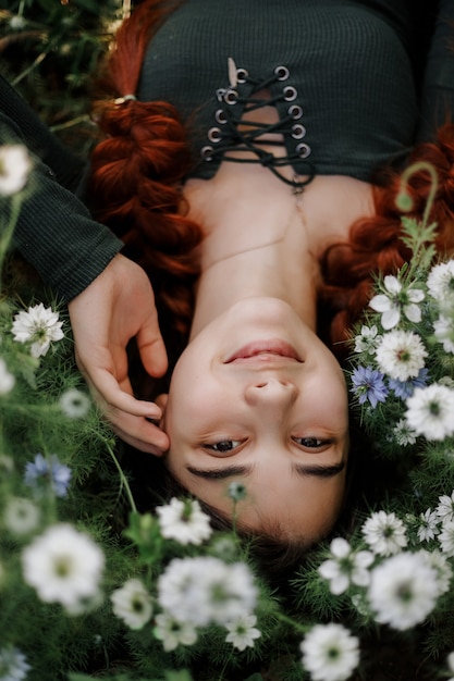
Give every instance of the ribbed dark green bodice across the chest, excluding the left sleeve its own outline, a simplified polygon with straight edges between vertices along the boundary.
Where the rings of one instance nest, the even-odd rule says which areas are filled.
[[[185,0],[149,45],[139,98],[167,100],[183,112],[194,176],[212,177],[232,149],[253,147],[261,162],[270,162],[254,132],[238,133],[245,108],[268,89],[296,173],[370,181],[376,169],[405,158],[417,136],[431,134],[444,97],[454,102],[454,53],[444,24],[454,22],[453,0],[439,3],[419,101],[437,4]],[[229,77],[229,58],[237,83]]]

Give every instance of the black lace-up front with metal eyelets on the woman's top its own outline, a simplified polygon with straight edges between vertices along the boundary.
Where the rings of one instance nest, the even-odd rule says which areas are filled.
[[[216,124],[208,131],[207,144],[200,150],[201,159],[208,163],[220,160],[260,163],[296,190],[300,189],[312,179],[315,168],[308,158],[311,149],[305,139],[307,131],[303,107],[295,103],[297,90],[289,84],[289,69],[284,65],[277,66],[270,76],[256,78],[246,69],[237,67],[233,59],[229,59],[229,87],[219,88],[216,92],[219,102],[214,112]],[[271,86],[274,86],[273,94],[263,97],[263,92],[269,92]],[[278,102],[285,108],[283,117],[275,123],[254,121],[250,114],[263,107],[274,107]],[[244,117],[245,113],[249,114],[247,120]],[[275,135],[280,135],[282,139],[275,139]],[[270,152],[269,147],[282,147],[284,141],[286,154],[274,156]],[[237,153],[245,151],[249,153]],[[295,164],[300,169],[299,173],[305,175],[304,179],[299,176],[289,179],[281,173],[282,166]]]

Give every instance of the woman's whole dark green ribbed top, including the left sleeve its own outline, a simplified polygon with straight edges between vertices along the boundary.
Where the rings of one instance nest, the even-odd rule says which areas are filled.
[[[251,92],[266,86],[278,98],[281,120],[289,119],[283,132],[297,172],[368,178],[390,158],[405,156],[417,138],[430,138],[446,109],[454,111],[450,20],[454,0],[186,0],[150,44],[140,96],[182,109],[193,131],[198,176],[212,176],[222,153],[238,144],[235,120],[249,106]],[[229,82],[229,57],[248,72],[236,73],[245,82],[235,87]],[[274,73],[279,66],[289,75]],[[287,86],[296,96],[286,101],[285,94],[293,92],[284,92]],[[237,91],[233,106],[230,96],[225,101],[230,89]],[[302,115],[289,113],[293,104]],[[224,128],[223,116],[218,113],[221,123],[217,120],[219,110],[236,112],[222,141],[226,149],[219,157],[205,152],[213,160],[201,160],[203,147],[222,146],[219,134],[210,133]],[[298,124],[303,127],[294,129]],[[36,158],[16,245],[70,300],[122,244],[90,219],[74,194],[83,162],[0,78],[0,144],[11,141],[26,144]],[[8,213],[8,199],[0,199],[0,225]]]

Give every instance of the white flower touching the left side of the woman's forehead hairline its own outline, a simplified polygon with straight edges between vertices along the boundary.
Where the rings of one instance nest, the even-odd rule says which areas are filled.
[[[210,519],[197,499],[173,497],[167,506],[158,506],[161,534],[180,544],[201,544],[211,535]]]

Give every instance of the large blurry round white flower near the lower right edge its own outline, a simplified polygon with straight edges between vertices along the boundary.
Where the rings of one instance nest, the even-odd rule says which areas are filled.
[[[420,624],[439,596],[437,572],[421,553],[401,553],[371,572],[368,597],[377,620],[405,630]]]

